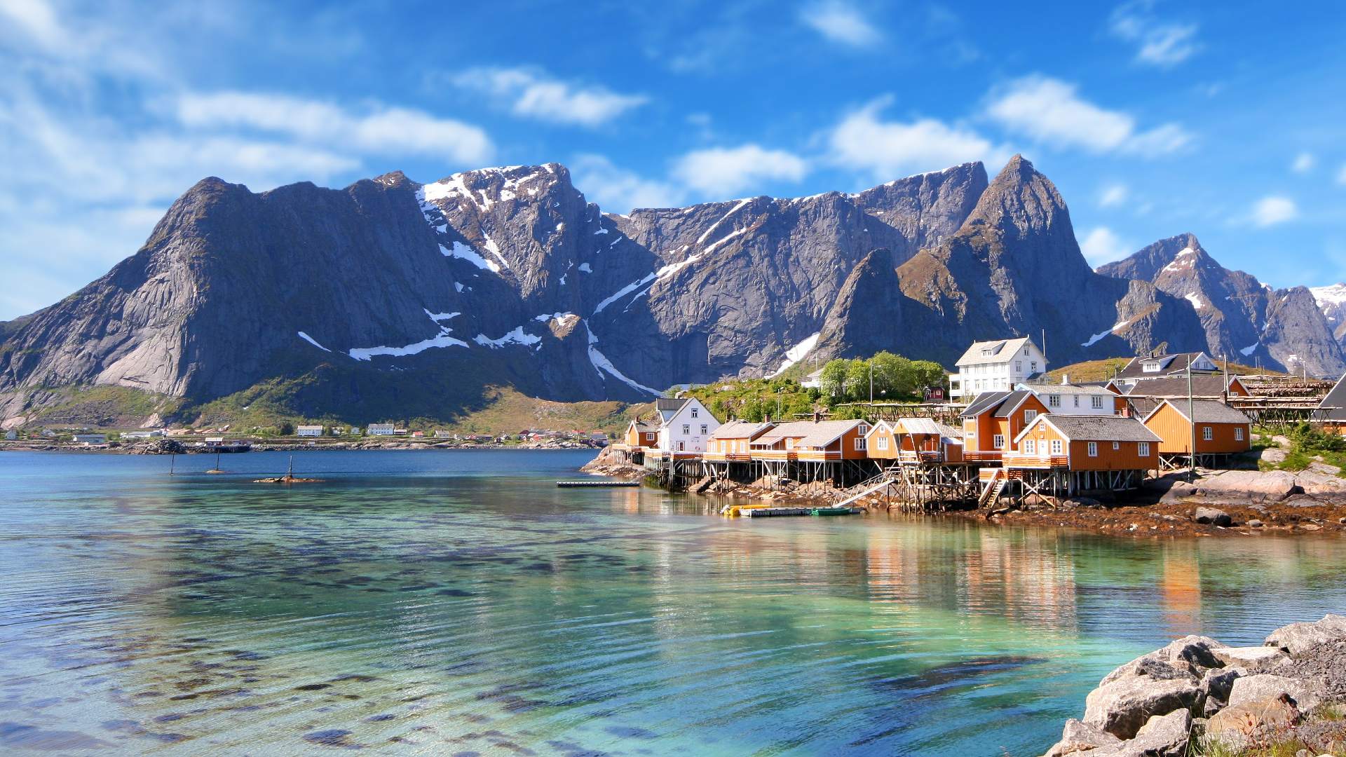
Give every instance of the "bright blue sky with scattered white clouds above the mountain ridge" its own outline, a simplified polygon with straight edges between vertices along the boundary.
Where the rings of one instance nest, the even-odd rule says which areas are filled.
[[[551,160],[626,211],[1023,152],[1094,264],[1193,232],[1277,287],[1346,279],[1331,3],[162,5],[0,0],[0,319],[206,175]]]

